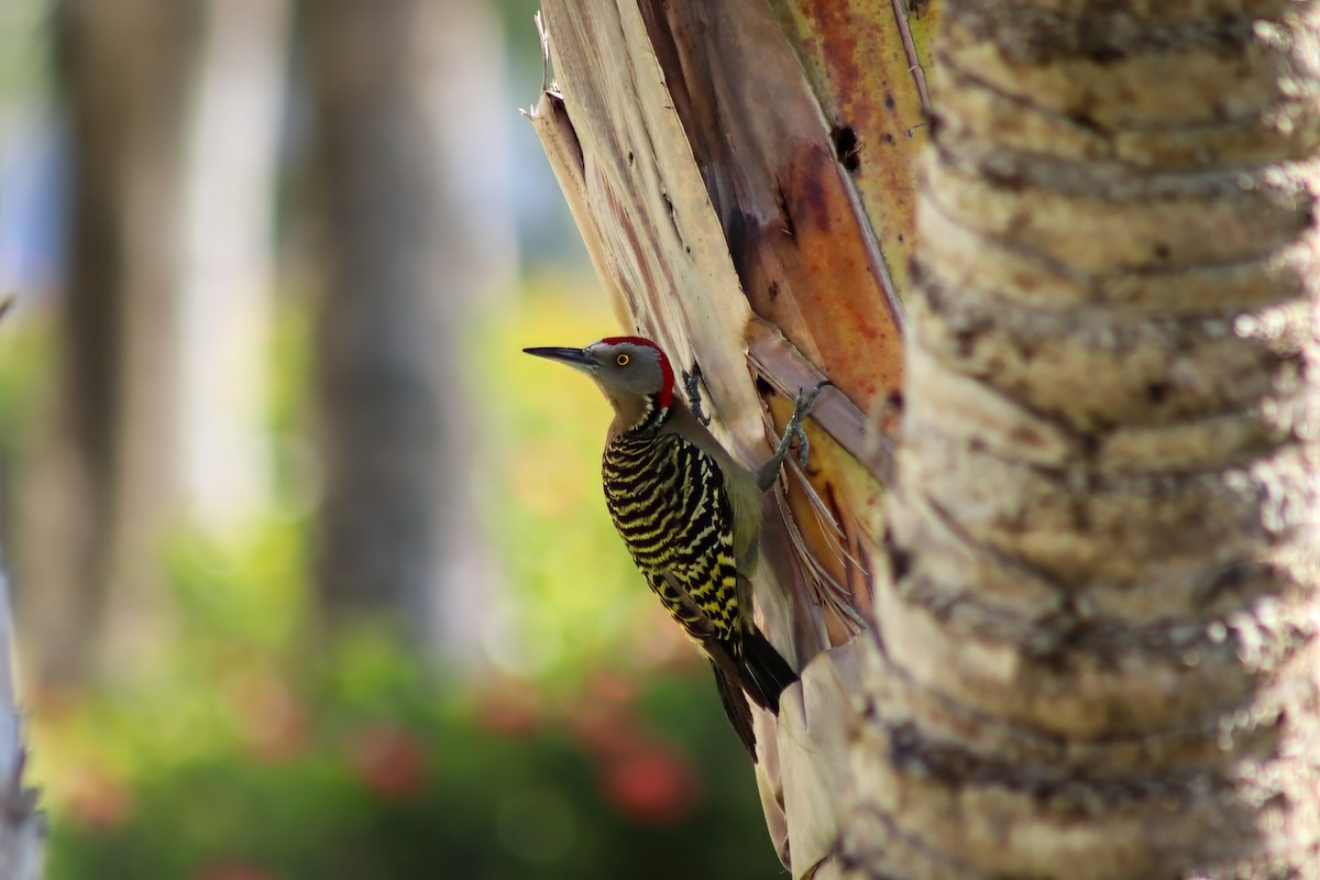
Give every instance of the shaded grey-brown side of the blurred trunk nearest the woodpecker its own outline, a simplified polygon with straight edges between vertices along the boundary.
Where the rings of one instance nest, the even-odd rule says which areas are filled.
[[[453,259],[429,125],[425,3],[306,8],[327,273],[318,327],[325,499],[317,583],[333,620],[428,632],[442,553],[444,301]]]

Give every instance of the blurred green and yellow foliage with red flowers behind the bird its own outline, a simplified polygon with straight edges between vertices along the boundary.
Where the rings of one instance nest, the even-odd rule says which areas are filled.
[[[226,545],[181,528],[150,666],[30,707],[50,880],[783,876],[705,665],[605,516],[605,401],[519,351],[615,322],[557,289],[515,299],[471,338],[484,385],[470,389],[490,402],[482,516],[508,636],[462,676],[370,628],[315,641],[306,327],[288,309],[280,505]],[[0,342],[0,429],[20,459],[45,336]]]

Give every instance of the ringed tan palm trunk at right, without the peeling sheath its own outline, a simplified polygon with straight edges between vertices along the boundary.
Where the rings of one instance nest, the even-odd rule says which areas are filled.
[[[1317,7],[942,15],[847,876],[1316,876]]]

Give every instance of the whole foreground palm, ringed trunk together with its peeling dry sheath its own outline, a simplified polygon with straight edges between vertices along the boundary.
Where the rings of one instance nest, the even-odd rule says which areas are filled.
[[[546,0],[630,323],[750,460],[838,389],[756,583],[795,877],[1320,868],[1320,18],[1238,8]]]

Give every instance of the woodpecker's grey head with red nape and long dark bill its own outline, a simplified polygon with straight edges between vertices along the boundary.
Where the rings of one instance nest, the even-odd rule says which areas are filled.
[[[636,427],[673,404],[673,368],[660,346],[642,336],[607,336],[586,348],[524,348],[577,367],[601,387],[624,427]]]

